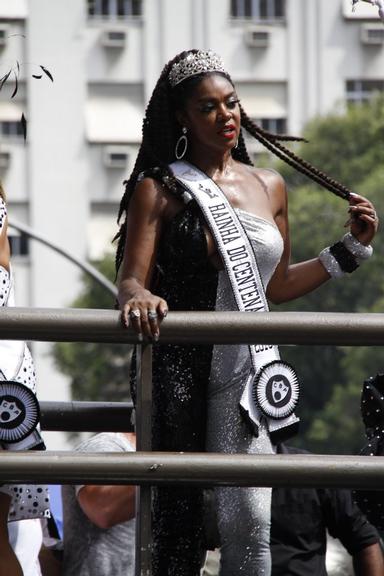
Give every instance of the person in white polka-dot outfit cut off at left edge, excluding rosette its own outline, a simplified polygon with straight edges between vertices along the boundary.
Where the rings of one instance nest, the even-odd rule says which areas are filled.
[[[0,305],[14,306],[14,279],[7,238],[7,208],[1,184]],[[0,340],[0,381],[4,380],[24,384],[36,393],[34,364],[25,342]],[[0,449],[4,449],[4,446],[0,445]],[[17,449],[16,446],[13,449]],[[0,576],[22,576],[22,569],[8,541],[8,522],[44,516],[49,516],[47,486],[0,484]]]

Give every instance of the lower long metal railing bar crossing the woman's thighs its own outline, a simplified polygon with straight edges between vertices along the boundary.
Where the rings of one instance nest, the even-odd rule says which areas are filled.
[[[384,458],[312,454],[2,452],[0,482],[384,489]]]

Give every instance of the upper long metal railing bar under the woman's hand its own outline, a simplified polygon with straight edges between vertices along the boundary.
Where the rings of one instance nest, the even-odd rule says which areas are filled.
[[[115,310],[2,308],[0,337],[44,342],[136,343]],[[384,314],[324,312],[171,312],[164,343],[382,345]]]

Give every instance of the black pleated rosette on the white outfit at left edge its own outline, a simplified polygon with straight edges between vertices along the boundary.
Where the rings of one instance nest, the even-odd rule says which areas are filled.
[[[39,402],[20,382],[0,381],[0,441],[20,442],[35,430],[40,419]]]

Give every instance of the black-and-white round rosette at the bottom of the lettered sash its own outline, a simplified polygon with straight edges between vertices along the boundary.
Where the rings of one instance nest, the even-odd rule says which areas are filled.
[[[299,400],[299,381],[292,366],[281,360],[263,366],[254,381],[253,397],[265,416],[290,416]]]

